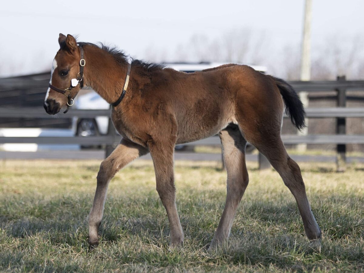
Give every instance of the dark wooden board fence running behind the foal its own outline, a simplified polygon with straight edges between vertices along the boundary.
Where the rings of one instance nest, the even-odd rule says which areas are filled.
[[[364,135],[346,135],[345,118],[364,118],[364,108],[346,108],[346,91],[364,91],[364,81],[346,81],[338,77],[337,81],[308,81],[289,82],[296,91],[322,92],[336,91],[337,106],[331,108],[306,108],[307,118],[336,118],[336,135],[282,135],[282,140],[287,145],[300,143],[307,144],[335,144],[337,145],[338,169],[343,169],[345,164],[345,145],[364,144]],[[71,109],[67,118],[95,118],[96,116],[110,116],[110,110],[76,110]],[[59,114],[62,118],[63,114]],[[0,118],[54,118],[46,114],[43,108],[0,108]],[[37,143],[37,144],[82,144],[106,145],[105,155],[109,155],[119,143],[120,136],[116,134],[114,126],[109,119],[108,133],[95,137],[0,137],[0,143]],[[220,145],[218,137],[210,137],[186,145]],[[269,167],[264,156],[259,156],[260,169]]]

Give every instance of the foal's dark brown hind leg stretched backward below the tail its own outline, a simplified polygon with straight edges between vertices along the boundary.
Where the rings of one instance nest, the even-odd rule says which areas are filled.
[[[321,238],[321,229],[312,214],[300,167],[287,154],[280,137],[280,127],[278,125],[273,126],[274,123],[272,122],[272,127],[267,125],[257,130],[255,126],[250,126],[248,129],[249,124],[252,123],[239,123],[239,127],[246,139],[265,155],[293,194],[297,201],[298,210],[300,210],[307,237],[310,240]]]

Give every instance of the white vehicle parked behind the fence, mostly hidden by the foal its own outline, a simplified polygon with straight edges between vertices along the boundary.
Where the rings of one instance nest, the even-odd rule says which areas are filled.
[[[163,63],[165,67],[173,68],[177,71],[183,71],[187,73],[201,71],[208,68],[214,68],[221,66],[225,63]],[[264,66],[250,65],[255,70],[262,73],[266,72]],[[77,109],[109,109],[108,104],[103,98],[101,98],[95,91],[90,91],[84,95],[79,95],[75,103]],[[88,137],[91,135],[107,134],[108,118],[105,116],[96,117],[95,119],[74,119],[73,128],[75,128],[75,134],[82,137]]]

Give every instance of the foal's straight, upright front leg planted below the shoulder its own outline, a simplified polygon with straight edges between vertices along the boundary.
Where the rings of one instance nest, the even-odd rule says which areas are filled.
[[[175,247],[183,244],[183,231],[175,203],[173,174],[174,143],[163,143],[159,145],[153,143],[149,145],[149,150],[154,164],[157,191],[168,215],[171,230],[170,246]]]

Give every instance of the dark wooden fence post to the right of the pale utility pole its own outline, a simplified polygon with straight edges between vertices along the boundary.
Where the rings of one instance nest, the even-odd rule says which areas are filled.
[[[345,81],[345,76],[337,76],[337,80],[342,82]],[[337,106],[346,107],[346,90],[337,89]],[[346,120],[345,118],[336,119],[336,133],[338,135],[346,134]],[[336,171],[345,171],[346,169],[346,145],[337,144],[336,146]]]

